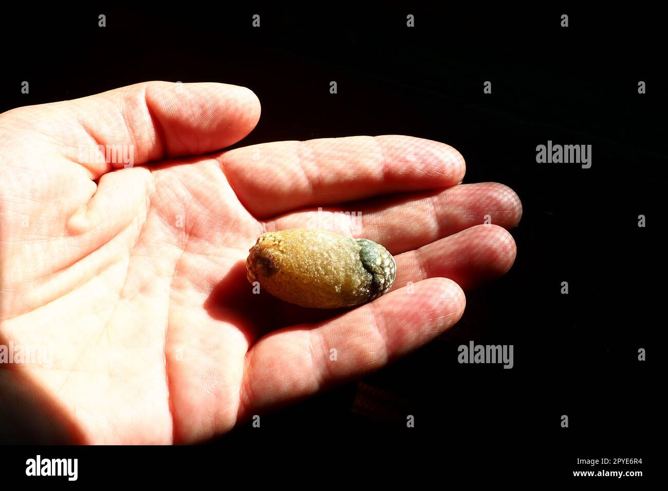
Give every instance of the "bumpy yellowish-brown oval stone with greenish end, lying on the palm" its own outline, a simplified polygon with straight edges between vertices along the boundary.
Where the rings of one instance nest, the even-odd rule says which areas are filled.
[[[267,232],[246,260],[246,277],[275,297],[302,307],[351,307],[380,297],[392,286],[397,265],[367,238],[293,228]]]

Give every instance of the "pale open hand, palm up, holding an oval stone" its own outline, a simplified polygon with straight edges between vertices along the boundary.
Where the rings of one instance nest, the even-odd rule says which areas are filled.
[[[259,118],[246,88],[168,82],[0,115],[0,345],[52,354],[0,364],[0,436],[202,442],[428,343],[464,291],[512,266],[520,200],[459,184],[454,148],[389,135],[224,150]],[[132,149],[132,166],[98,145]],[[257,237],[320,206],[361,212],[337,232],[394,255],[387,295],[309,311],[253,293]]]

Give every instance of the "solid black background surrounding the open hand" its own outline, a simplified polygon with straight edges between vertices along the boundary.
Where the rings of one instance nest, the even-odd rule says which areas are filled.
[[[107,27],[98,27],[100,13]],[[260,28],[251,25],[255,13]],[[1,111],[151,79],[220,81],[251,88],[262,104],[257,128],[236,146],[418,136],[464,155],[464,183],[503,182],[522,200],[510,273],[470,293],[448,333],[363,379],[405,401],[415,428],[353,414],[350,383],[263,416],[261,431],[237,428],[211,452],[241,447],[263,457],[249,452],[308,441],[313,452],[345,455],[389,438],[389,451],[407,462],[418,449],[442,456],[444,479],[490,466],[564,476],[587,469],[575,459],[591,456],[644,457],[623,470],[647,468],[663,438],[665,393],[667,128],[657,13],[176,3],[25,9],[0,23]],[[641,80],[647,94],[638,94]],[[483,94],[484,81],[492,94]],[[537,164],[536,146],[548,140],[591,144],[592,167]],[[469,340],[514,345],[514,368],[460,365],[457,347]],[[371,454],[357,465],[372,466]]]

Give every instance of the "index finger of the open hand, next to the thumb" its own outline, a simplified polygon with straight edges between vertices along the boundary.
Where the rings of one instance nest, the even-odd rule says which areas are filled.
[[[445,188],[464,178],[462,155],[402,135],[273,142],[224,152],[218,162],[257,218],[390,192]]]

